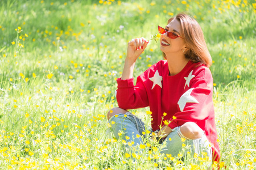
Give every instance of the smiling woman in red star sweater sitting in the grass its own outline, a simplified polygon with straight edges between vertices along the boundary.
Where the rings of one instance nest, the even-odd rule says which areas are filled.
[[[167,142],[164,154],[176,156],[182,148],[182,138],[192,151],[207,152],[218,161],[217,141],[212,101],[213,78],[209,67],[212,58],[205,44],[200,25],[187,14],[168,20],[165,28],[158,26],[160,50],[166,60],[152,65],[133,84],[135,61],[147,47],[147,41],[137,38],[128,43],[122,77],[117,79],[119,108],[108,112],[115,137],[123,130],[134,145],[142,143],[144,124],[126,109],[150,107],[152,131]],[[171,138],[171,140],[169,140]],[[210,144],[210,147],[209,147]]]

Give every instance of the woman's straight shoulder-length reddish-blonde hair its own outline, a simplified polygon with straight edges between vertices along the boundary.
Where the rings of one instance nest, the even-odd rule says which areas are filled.
[[[177,19],[181,25],[181,37],[184,37],[187,50],[184,52],[185,58],[192,62],[200,62],[205,66],[212,65],[212,57],[204,40],[203,31],[197,21],[190,15],[185,13],[177,14],[174,18],[170,18],[168,23]],[[166,54],[163,53],[164,58]]]

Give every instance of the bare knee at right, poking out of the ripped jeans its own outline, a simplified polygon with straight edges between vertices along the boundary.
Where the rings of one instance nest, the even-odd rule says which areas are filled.
[[[180,126],[180,132],[187,139],[199,139],[203,137],[203,130],[194,122],[186,122]]]

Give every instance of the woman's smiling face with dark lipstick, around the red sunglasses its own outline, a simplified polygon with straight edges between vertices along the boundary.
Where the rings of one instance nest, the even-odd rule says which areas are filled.
[[[181,26],[180,22],[177,19],[174,19],[170,23],[168,23],[165,29],[168,32],[172,32],[176,35],[181,36]],[[182,53],[184,47],[185,41],[180,37],[177,37],[176,39],[171,39],[167,36],[167,33],[164,33],[160,36],[160,50],[162,50],[162,52],[164,52],[166,56],[168,56],[168,53]]]

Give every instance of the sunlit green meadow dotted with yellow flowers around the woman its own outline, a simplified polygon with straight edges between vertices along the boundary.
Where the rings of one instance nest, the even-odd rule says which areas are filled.
[[[256,169],[254,0],[0,1],[1,169],[207,169],[205,158],[182,162],[149,142],[125,153],[106,134],[127,42],[150,39],[181,11],[213,58],[221,160],[212,168]],[[134,77],[160,59],[150,41]],[[131,110],[150,125],[148,111]]]

